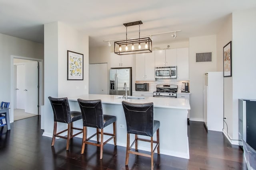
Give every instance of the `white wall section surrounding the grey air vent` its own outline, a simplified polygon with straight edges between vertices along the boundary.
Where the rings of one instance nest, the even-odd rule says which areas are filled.
[[[212,62],[196,63],[196,53],[212,52]],[[216,35],[189,39],[190,120],[203,120],[203,89],[206,72],[216,71]]]

